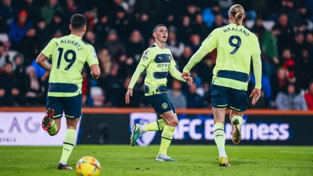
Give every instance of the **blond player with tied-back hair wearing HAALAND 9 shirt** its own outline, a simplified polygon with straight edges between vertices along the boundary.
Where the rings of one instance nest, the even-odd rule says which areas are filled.
[[[200,49],[192,56],[183,69],[182,76],[188,76],[189,71],[202,58],[217,48],[216,66],[213,70],[211,84],[211,101],[214,116],[214,140],[218,147],[220,166],[229,166],[225,153],[225,111],[231,108],[230,120],[233,129],[233,143],[241,139],[240,126],[243,122],[244,111],[248,106],[248,80],[250,60],[252,57],[255,89],[252,91],[252,104],[260,97],[261,89],[261,50],[258,38],[242,25],[244,8],[233,5],[228,11],[229,25],[213,30],[205,39]]]

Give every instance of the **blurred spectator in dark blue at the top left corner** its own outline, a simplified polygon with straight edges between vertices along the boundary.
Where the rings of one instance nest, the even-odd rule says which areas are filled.
[[[0,33],[9,31],[8,25],[17,17],[18,8],[12,0],[0,1]]]

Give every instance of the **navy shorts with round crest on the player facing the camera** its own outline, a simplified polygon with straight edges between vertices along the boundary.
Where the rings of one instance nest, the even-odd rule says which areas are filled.
[[[173,110],[176,113],[174,105],[171,100],[168,98],[167,93],[155,94],[146,96],[148,102],[156,111],[157,115],[163,114],[164,112]]]

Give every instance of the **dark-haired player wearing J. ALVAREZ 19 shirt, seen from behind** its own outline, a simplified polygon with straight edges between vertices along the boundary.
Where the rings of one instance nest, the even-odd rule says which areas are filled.
[[[52,39],[36,59],[42,68],[50,71],[43,129],[51,136],[56,135],[60,129],[63,111],[66,117],[67,132],[58,169],[73,169],[67,165],[67,160],[76,143],[76,126],[81,116],[81,72],[85,62],[90,66],[91,75],[95,79],[100,75],[94,47],[82,40],[86,24],[87,18],[84,15],[74,14],[69,25],[71,34]],[[49,64],[47,59],[52,59],[52,64]]]

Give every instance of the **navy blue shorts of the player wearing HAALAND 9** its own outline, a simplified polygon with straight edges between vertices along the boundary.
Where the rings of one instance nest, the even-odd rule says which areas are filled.
[[[247,91],[211,84],[211,101],[215,108],[230,107],[238,112],[246,111]]]

